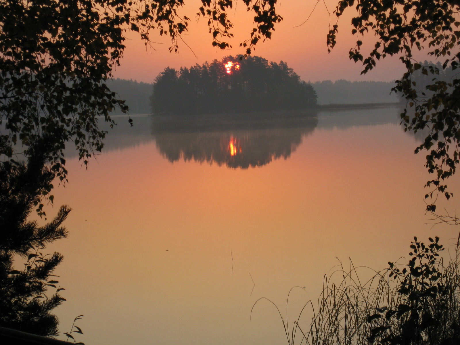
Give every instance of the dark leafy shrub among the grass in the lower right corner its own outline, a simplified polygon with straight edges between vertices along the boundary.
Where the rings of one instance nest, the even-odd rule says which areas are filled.
[[[400,303],[368,316],[368,341],[382,345],[454,345],[460,342],[458,262],[443,266],[439,237],[411,242],[404,268],[389,262],[388,278],[398,281]]]

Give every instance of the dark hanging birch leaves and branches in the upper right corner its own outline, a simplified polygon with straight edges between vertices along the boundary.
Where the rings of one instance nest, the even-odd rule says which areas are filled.
[[[362,62],[362,74],[376,66],[380,58],[387,55],[400,55],[407,71],[396,81],[394,91],[400,92],[407,100],[406,109],[401,114],[405,130],[414,132],[429,129],[424,142],[415,152],[427,150],[426,167],[428,173],[435,174],[428,180],[427,187],[432,190],[426,194],[431,197],[426,210],[436,210],[439,194],[449,199],[453,194],[447,190],[443,180],[452,176],[460,163],[460,79],[439,80],[440,71],[458,68],[460,63],[460,26],[457,13],[460,5],[456,0],[341,0],[334,11],[340,17],[352,7],[356,17],[352,18],[351,33],[357,35],[356,46],[350,49],[350,59]],[[328,33],[329,49],[336,44],[338,25]],[[374,49],[368,57],[362,55],[362,36],[373,32],[376,37]],[[441,68],[422,65],[413,56],[413,51],[426,48],[428,56],[444,59]],[[416,71],[431,78],[426,85],[429,94],[423,95],[413,80]],[[428,97],[425,97],[428,96]],[[412,108],[412,109],[411,109]]]

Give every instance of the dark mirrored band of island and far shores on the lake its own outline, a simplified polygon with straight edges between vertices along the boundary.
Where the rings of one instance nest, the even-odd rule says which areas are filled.
[[[127,116],[115,115],[118,125],[113,129],[103,121],[100,125],[109,132],[103,153],[137,148],[155,141],[161,155],[171,162],[193,160],[242,168],[288,158],[302,142],[302,137],[313,131],[399,125],[400,113],[401,109],[389,107],[239,114],[232,115],[231,119],[225,115],[132,115],[134,127],[129,126]],[[426,133],[410,131],[406,134],[421,142]],[[66,150],[66,157],[75,155],[74,149]]]

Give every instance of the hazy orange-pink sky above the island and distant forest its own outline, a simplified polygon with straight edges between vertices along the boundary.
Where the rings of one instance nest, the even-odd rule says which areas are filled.
[[[212,61],[215,58],[220,59],[223,56],[244,53],[239,44],[249,37],[249,32],[253,27],[253,14],[246,11],[242,1],[236,1],[230,14],[235,24],[233,31],[235,38],[231,42],[233,49],[227,51],[221,51],[211,45],[212,37],[208,33],[206,20],[201,18],[198,23],[196,22],[196,12],[201,1],[186,0],[185,2],[186,6],[182,9],[181,14],[187,15],[192,20],[189,24],[189,33],[183,38],[196,57],[184,43],[181,44],[178,54],[169,53],[169,38],[160,37],[156,32],[152,35],[152,40],[158,42],[153,46],[156,51],[144,46],[138,35],[130,33],[127,36],[127,49],[123,61],[121,66],[116,68],[115,77],[152,82],[155,76],[167,66],[190,67],[196,63]],[[337,20],[332,12],[338,1],[326,0],[328,10],[322,0],[318,2],[316,0],[282,0],[279,2],[278,12],[284,19],[276,27],[271,40],[259,42],[254,52],[255,55],[271,61],[287,62],[305,81],[328,79],[392,81],[402,75],[403,65],[397,57],[385,58],[377,64],[376,69],[362,76],[360,75],[362,64],[349,60],[348,52],[356,42],[356,36],[351,35],[350,24],[351,17],[356,11],[349,10],[346,16],[340,18],[338,44],[328,54],[326,46],[326,35],[329,30],[328,11],[331,12],[332,26]],[[308,18],[316,3],[316,9],[308,22],[295,27]],[[364,42],[363,52],[369,52],[375,43],[374,36],[368,35]],[[423,55],[420,57],[425,59]]]

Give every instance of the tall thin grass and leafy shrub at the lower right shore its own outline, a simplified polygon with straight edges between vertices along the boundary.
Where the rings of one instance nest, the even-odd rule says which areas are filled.
[[[349,270],[340,265],[325,276],[317,302],[303,305],[292,324],[288,313],[283,317],[269,300],[279,313],[288,345],[460,344],[459,246],[445,265],[438,240],[430,238],[425,246],[414,237],[408,265],[390,262],[388,269],[374,271],[366,281],[358,274],[362,267],[355,268],[351,261]],[[311,322],[302,321],[304,314]]]

